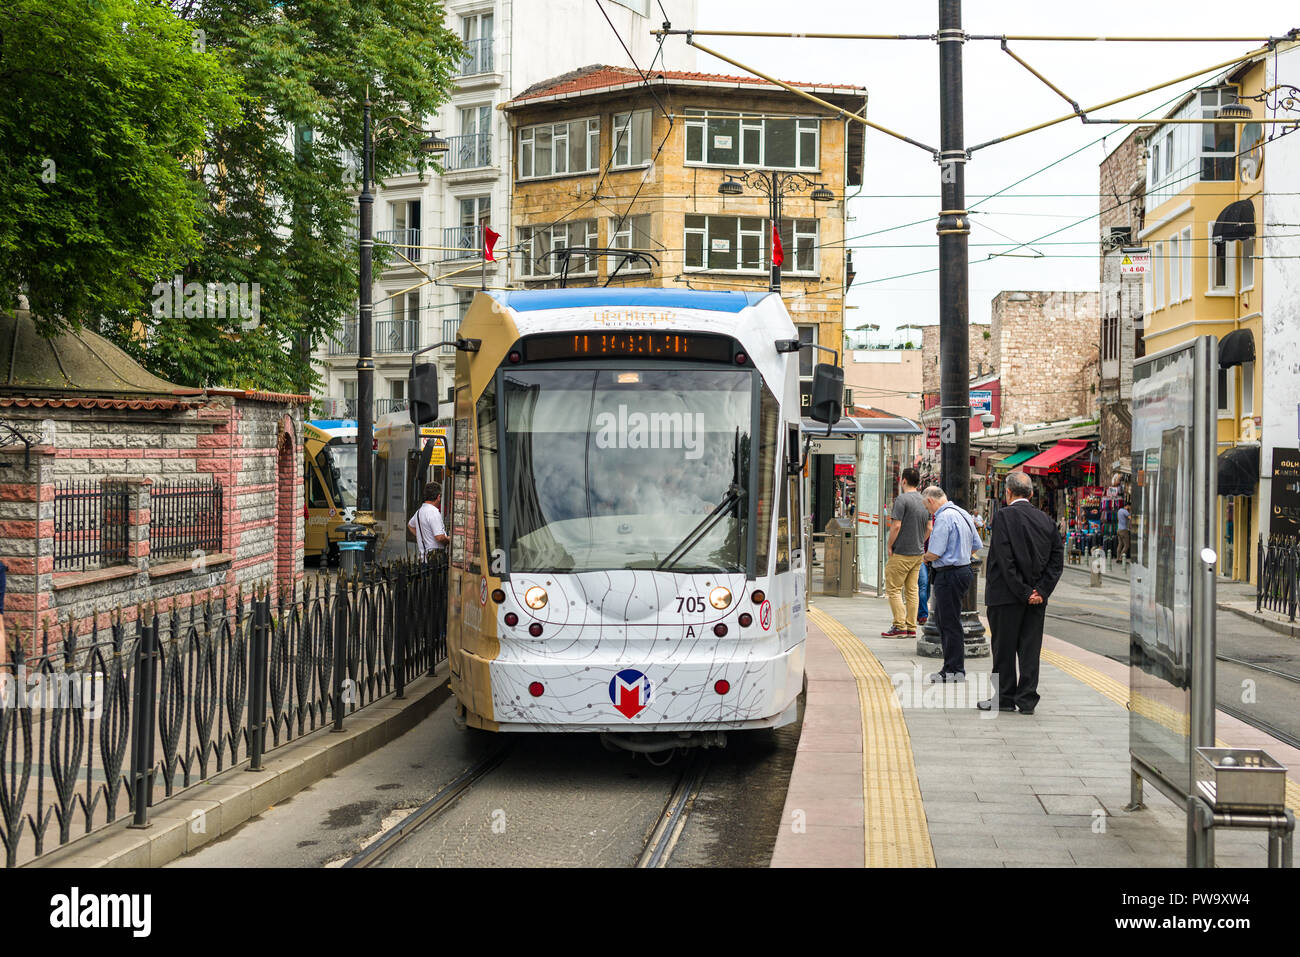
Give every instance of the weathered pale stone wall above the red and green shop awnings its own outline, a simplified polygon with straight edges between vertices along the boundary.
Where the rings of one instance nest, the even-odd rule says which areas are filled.
[[[993,298],[991,360],[1002,424],[1093,416],[1097,293],[1004,291]]]

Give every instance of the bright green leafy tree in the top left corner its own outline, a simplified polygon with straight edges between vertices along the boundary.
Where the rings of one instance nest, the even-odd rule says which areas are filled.
[[[0,304],[47,334],[139,312],[203,246],[195,159],[238,79],[147,0],[0,0]]]

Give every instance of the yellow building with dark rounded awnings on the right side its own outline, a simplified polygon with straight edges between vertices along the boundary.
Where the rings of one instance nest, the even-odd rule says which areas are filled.
[[[1222,341],[1236,330],[1248,330],[1262,355],[1264,283],[1254,237],[1266,173],[1256,147],[1268,127],[1236,122],[1235,114],[1265,116],[1248,99],[1265,88],[1265,73],[1264,57],[1234,68],[1184,98],[1144,139],[1145,225],[1136,239],[1152,259],[1143,290],[1147,355],[1197,335]],[[1169,122],[1216,118],[1225,122]],[[1218,376],[1222,455],[1258,441],[1262,374],[1247,361]],[[1257,489],[1218,497],[1221,576],[1256,580],[1258,534]]]

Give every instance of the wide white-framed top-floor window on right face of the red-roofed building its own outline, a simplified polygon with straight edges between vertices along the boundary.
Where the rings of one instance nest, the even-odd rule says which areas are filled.
[[[686,165],[816,169],[819,138],[816,120],[686,111]]]

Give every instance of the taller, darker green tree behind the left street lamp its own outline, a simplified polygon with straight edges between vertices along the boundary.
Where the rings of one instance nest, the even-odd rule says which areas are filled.
[[[463,48],[441,0],[190,0],[176,10],[239,74],[243,108],[208,139],[202,251],[183,278],[257,283],[260,308],[233,325],[173,303],[133,347],[177,382],[307,391],[316,373],[303,345],[356,312],[351,157],[367,91],[374,117],[420,125],[448,98]],[[417,155],[421,134],[398,127],[376,142],[380,179]],[[377,255],[376,274],[381,265]]]

